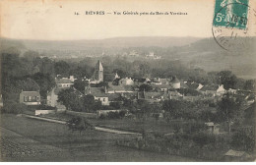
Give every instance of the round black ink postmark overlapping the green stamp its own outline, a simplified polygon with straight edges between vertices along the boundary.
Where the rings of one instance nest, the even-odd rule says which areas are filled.
[[[212,32],[216,42],[227,51],[242,51],[255,35],[256,11],[243,3],[217,4]]]

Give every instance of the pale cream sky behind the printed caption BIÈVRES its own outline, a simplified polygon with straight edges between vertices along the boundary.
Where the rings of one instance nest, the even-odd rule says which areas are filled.
[[[209,37],[213,35],[214,6],[214,0],[2,0],[0,35],[39,40]],[[86,11],[104,11],[105,15],[86,15]],[[124,11],[187,15],[114,15],[114,12]]]

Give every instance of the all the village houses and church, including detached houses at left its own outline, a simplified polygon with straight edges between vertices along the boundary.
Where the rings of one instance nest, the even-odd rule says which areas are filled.
[[[70,78],[56,78],[56,86],[54,86],[47,93],[46,104],[52,107],[56,107],[58,110],[65,110],[65,106],[62,105],[58,100],[58,93],[62,89],[67,89],[72,87],[75,82],[74,76]],[[96,100],[99,100],[102,105],[109,105],[111,102],[115,102],[120,96],[126,97],[131,100],[144,99],[149,103],[158,103],[161,100],[167,99],[180,99],[180,100],[199,100],[216,97],[221,97],[226,90],[224,85],[211,84],[203,85],[201,83],[187,83],[178,80],[176,77],[169,79],[160,79],[160,78],[120,78],[116,73],[113,75],[111,81],[104,81],[104,72],[103,66],[100,61],[96,63],[96,70],[94,77],[91,80],[84,80],[85,84],[85,93],[81,95],[92,94]],[[99,86],[98,83],[107,83],[107,85]],[[150,91],[141,90],[141,85],[151,86]],[[191,95],[189,93],[184,94],[184,90],[189,89],[196,91],[196,95]],[[229,89],[229,92],[236,93],[237,90]],[[254,98],[253,98],[254,101]],[[20,102],[27,105],[39,105],[41,102],[39,91],[22,91],[20,93]]]

